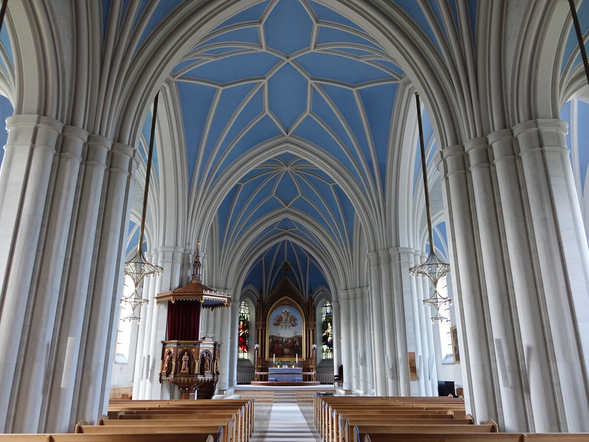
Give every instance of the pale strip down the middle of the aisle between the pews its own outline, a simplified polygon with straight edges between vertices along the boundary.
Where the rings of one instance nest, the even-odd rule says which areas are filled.
[[[254,424],[255,428],[255,424]],[[256,437],[257,436],[257,437]],[[273,404],[266,434],[254,434],[255,442],[316,442],[315,435],[297,404]]]

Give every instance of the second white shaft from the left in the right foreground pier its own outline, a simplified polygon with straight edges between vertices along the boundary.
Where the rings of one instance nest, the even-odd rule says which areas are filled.
[[[484,299],[489,315],[489,332],[493,341],[491,369],[494,377],[495,400],[498,408],[498,424],[504,431],[529,431],[525,413],[524,388],[520,371],[525,371],[525,361],[518,357],[518,348],[512,321],[514,305],[504,271],[502,238],[499,232],[497,210],[491,177],[491,164],[487,156],[487,138],[475,138],[465,144],[470,160],[475,213],[481,244]]]

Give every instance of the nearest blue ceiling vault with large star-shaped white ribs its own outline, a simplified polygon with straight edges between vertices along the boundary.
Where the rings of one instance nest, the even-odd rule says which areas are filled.
[[[209,187],[241,154],[280,137],[332,154],[362,187],[384,182],[403,72],[336,12],[262,2],[210,32],[173,75],[191,184]]]

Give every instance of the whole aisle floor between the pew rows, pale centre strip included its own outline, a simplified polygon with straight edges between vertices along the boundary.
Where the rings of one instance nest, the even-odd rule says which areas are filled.
[[[308,408],[308,410],[307,410]],[[303,406],[305,413],[312,407]],[[307,424],[297,404],[256,404],[256,417],[252,442],[317,442],[319,434]],[[311,424],[312,425],[312,424]]]

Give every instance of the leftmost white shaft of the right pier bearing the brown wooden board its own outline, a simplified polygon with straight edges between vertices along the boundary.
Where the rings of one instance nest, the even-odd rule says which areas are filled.
[[[368,253],[370,271],[370,306],[372,308],[372,355],[375,378],[376,395],[388,394],[388,382],[391,378],[390,364],[395,364],[394,355],[389,357],[389,364],[385,358],[385,328],[383,327],[382,289],[380,285],[380,263],[376,252]],[[396,377],[395,377],[396,378]]]

